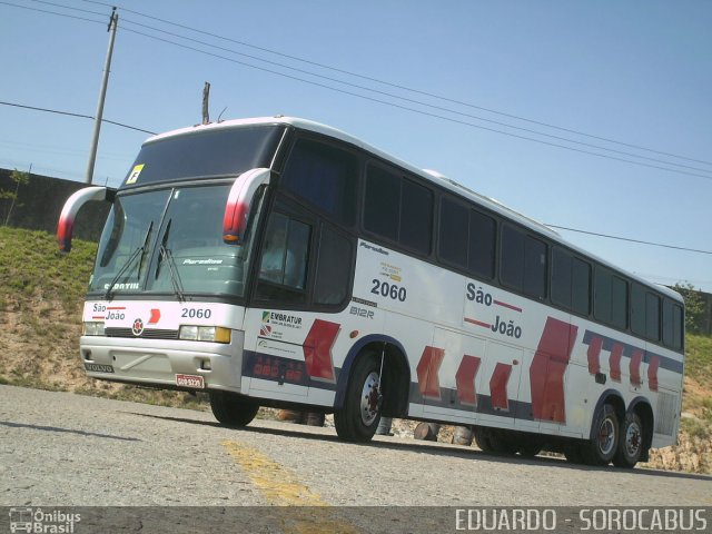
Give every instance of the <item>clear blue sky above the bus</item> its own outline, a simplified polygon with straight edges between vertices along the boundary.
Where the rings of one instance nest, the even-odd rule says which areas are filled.
[[[212,120],[324,122],[542,222],[699,250],[557,230],[712,293],[708,0],[117,1],[105,119],[196,125],[209,81]],[[17,106],[96,115],[110,6],[0,1],[0,167],[85,180],[92,120]],[[147,137],[105,122],[93,182]]]

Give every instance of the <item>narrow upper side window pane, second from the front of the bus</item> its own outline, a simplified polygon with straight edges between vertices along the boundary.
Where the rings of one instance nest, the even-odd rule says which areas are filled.
[[[378,236],[398,238],[400,221],[400,177],[379,167],[368,167],[364,228]]]

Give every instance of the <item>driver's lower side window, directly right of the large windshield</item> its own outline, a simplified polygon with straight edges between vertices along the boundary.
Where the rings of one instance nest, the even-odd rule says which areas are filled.
[[[259,264],[258,298],[306,300],[310,236],[309,225],[278,212],[270,216]]]

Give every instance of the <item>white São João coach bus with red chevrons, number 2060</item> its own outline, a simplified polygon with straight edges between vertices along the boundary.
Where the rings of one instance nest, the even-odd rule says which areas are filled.
[[[465,426],[487,452],[633,467],[680,424],[684,304],[546,226],[337,129],[268,117],[149,138],[83,307],[89,377],[260,406]]]

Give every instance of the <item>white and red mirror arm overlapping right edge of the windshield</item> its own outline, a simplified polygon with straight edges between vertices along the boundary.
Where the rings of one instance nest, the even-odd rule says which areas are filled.
[[[269,169],[258,168],[243,172],[233,184],[222,219],[222,240],[230,245],[241,245],[247,229],[247,220],[255,192],[259,186],[269,182]]]

